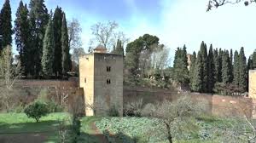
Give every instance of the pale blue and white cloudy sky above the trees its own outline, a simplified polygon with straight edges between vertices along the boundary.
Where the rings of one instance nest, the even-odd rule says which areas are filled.
[[[15,12],[20,0],[10,0]],[[90,26],[115,20],[131,41],[148,33],[174,50],[186,44],[188,52],[200,49],[201,41],[213,48],[245,48],[247,56],[256,49],[256,4],[243,3],[207,12],[208,0],[46,0],[48,9],[57,5],[67,19],[77,18],[82,26],[83,47],[87,51]],[[23,0],[29,3],[29,0]],[[0,1],[3,6],[3,0]]]

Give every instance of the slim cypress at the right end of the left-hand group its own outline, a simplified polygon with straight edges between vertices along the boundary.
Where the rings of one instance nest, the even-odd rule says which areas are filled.
[[[62,75],[67,75],[71,70],[71,55],[69,54],[68,47],[68,34],[67,34],[67,20],[63,13],[62,26],[61,26],[61,50],[62,50]]]

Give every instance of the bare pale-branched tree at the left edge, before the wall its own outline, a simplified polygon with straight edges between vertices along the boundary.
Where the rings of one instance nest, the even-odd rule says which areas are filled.
[[[7,46],[3,49],[3,52],[0,57],[0,98],[5,106],[7,112],[15,106],[15,103],[12,103],[13,87],[16,82],[16,79],[21,77],[21,66],[20,62],[16,66],[13,65],[13,57],[11,46]]]

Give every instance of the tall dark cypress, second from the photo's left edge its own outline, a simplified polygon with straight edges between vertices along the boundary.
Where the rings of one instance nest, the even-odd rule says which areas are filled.
[[[20,54],[20,66],[22,67],[23,74],[27,75],[31,66],[31,61],[27,59],[30,50],[30,29],[28,20],[28,9],[26,4],[24,5],[20,1],[20,6],[17,9],[16,20],[15,20],[15,43],[17,51]]]

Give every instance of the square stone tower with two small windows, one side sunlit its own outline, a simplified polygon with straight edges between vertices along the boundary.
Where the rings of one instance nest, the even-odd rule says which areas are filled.
[[[123,114],[123,55],[98,46],[79,58],[79,86],[84,89],[85,115]]]

